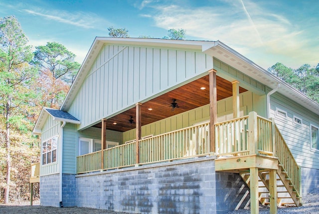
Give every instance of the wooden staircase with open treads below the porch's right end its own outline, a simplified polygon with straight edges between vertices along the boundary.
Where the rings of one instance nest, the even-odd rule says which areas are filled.
[[[286,206],[286,205],[295,205],[300,207],[301,203],[301,196],[295,185],[292,183],[292,179],[289,178],[288,173],[284,170],[281,164],[278,165],[277,170],[277,205],[278,206]],[[249,171],[241,171],[240,173],[241,178],[250,188],[250,174]],[[258,170],[258,177],[259,177],[259,202],[262,205],[269,205],[269,170],[268,169],[259,169]]]

